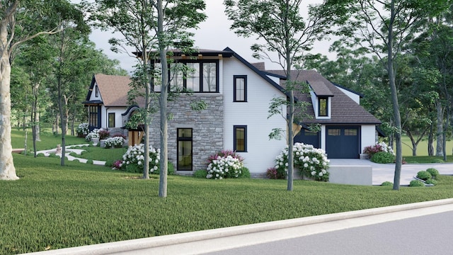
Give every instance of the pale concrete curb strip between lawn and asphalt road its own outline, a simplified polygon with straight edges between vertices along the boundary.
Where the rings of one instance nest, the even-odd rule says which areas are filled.
[[[263,242],[270,242],[267,240],[255,240],[249,244],[236,244],[237,240],[248,239],[253,234],[266,234],[275,231],[294,232],[294,228],[297,227],[309,227],[309,225],[316,225],[328,222],[340,222],[342,220],[350,220],[354,218],[372,217],[374,215],[385,215],[393,212],[404,212],[418,209],[429,209],[430,212],[425,214],[436,213],[436,210],[432,210],[434,207],[442,207],[442,205],[450,205],[448,208],[443,210],[453,210],[453,198],[443,200],[432,200],[421,203],[411,203],[406,205],[393,205],[384,208],[372,208],[365,210],[357,210],[352,212],[338,212],[329,215],[318,215],[312,217],[302,217],[290,220],[279,220],[275,222],[263,222],[251,225],[242,225],[235,227],[225,227],[220,229],[207,229],[197,232],[187,232],[181,234],[169,234],[166,236],[159,237],[148,237],[142,239],[133,239],[120,242],[111,242],[105,244],[93,244],[89,246],[79,246],[74,248],[56,249],[52,251],[38,251],[32,254],[65,254],[65,255],[78,255],[78,254],[202,254],[205,252],[219,251],[221,249],[236,248],[239,246],[258,244]],[[416,217],[411,213],[406,213],[406,217]],[[386,221],[394,220],[391,217],[386,217]],[[363,220],[362,220],[363,221]],[[366,220],[365,220],[366,221]],[[373,223],[369,223],[373,224]],[[322,227],[321,227],[322,228]],[[289,230],[291,229],[291,230]],[[323,229],[324,232],[332,231],[329,229]],[[313,234],[313,233],[312,233]],[[308,234],[306,234],[308,235]],[[214,241],[214,239],[217,239]],[[234,239],[235,241],[232,242]],[[281,237],[280,239],[285,239]],[[272,241],[278,239],[271,237]],[[223,246],[222,246],[223,242]],[[220,245],[218,245],[220,244]],[[216,247],[208,247],[208,246]],[[223,247],[223,248],[222,248]],[[204,249],[204,251],[202,251]]]

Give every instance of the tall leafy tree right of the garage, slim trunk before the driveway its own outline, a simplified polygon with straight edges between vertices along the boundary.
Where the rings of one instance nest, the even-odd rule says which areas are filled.
[[[396,164],[394,190],[399,190],[401,178],[401,114],[396,89],[396,60],[404,45],[413,39],[418,23],[427,16],[433,16],[447,7],[447,1],[411,0],[360,0],[327,1],[329,6],[349,10],[350,22],[342,26],[347,35],[360,38],[360,43],[371,50],[382,61],[389,77],[391,102],[394,113],[394,133],[396,142]]]

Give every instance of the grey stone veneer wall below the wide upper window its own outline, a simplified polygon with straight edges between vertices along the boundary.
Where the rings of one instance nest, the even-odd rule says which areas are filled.
[[[202,100],[207,109],[193,111],[190,102]],[[224,148],[224,106],[222,94],[194,94],[180,96],[176,102],[168,102],[168,111],[173,119],[168,120],[168,162],[177,167],[177,130],[178,128],[193,129],[193,171],[206,169],[207,158]],[[159,113],[151,120],[149,142],[153,147],[160,147]],[[192,174],[191,171],[178,171],[178,174]]]

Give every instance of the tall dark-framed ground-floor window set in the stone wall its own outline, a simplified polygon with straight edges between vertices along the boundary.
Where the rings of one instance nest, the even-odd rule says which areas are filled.
[[[178,171],[192,171],[193,169],[193,158],[192,158],[192,140],[193,140],[193,129],[192,128],[178,128],[178,160],[176,169]]]

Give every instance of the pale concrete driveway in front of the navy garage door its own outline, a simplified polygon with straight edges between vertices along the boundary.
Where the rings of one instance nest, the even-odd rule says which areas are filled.
[[[330,159],[331,166],[372,166],[373,185],[381,185],[384,181],[394,182],[395,164],[376,164],[368,159]],[[435,168],[440,174],[453,175],[453,163],[403,164],[401,167],[400,185],[409,185],[418,171]]]

